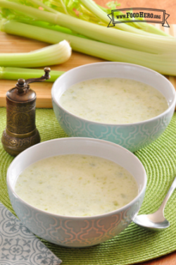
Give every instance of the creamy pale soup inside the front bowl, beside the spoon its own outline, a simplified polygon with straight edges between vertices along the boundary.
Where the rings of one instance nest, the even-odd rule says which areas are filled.
[[[66,154],[32,164],[21,173],[15,192],[34,207],[63,216],[94,216],[134,199],[134,177],[113,161]]]

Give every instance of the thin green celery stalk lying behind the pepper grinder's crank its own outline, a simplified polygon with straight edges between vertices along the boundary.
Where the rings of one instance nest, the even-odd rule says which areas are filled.
[[[46,82],[54,82],[63,73],[65,72],[51,70],[50,73],[51,78],[49,80],[46,80]],[[40,69],[0,67],[0,79],[18,80],[18,78],[23,78],[23,79],[39,78],[39,76],[43,74],[44,70]]]

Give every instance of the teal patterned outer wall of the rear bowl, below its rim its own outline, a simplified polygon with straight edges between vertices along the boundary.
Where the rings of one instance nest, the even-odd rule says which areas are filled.
[[[111,125],[87,121],[61,109],[53,101],[54,113],[70,137],[91,137],[107,140],[135,152],[155,141],[170,123],[174,109],[160,118],[130,125]]]

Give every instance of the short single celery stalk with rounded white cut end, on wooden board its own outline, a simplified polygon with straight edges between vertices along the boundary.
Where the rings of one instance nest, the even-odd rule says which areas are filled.
[[[0,54],[0,64],[1,66],[29,68],[52,66],[54,64],[64,63],[70,58],[70,55],[70,44],[63,40],[55,45],[27,53]]]

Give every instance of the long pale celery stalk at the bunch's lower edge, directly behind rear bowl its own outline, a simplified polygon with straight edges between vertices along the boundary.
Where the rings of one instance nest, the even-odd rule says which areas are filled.
[[[13,20],[1,24],[1,30],[13,35],[20,35],[38,39],[51,44],[61,42],[62,39],[67,39],[70,46],[75,51],[80,51],[84,54],[89,54],[108,61],[122,61],[126,63],[136,63],[141,66],[146,66],[153,70],[166,75],[175,75],[176,58],[175,54],[149,54],[142,51],[125,49],[116,47],[111,44],[96,42],[91,39],[84,39],[68,35],[63,32],[56,32],[42,27],[26,25]]]

